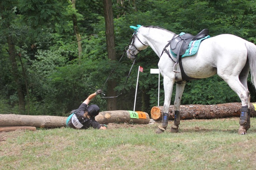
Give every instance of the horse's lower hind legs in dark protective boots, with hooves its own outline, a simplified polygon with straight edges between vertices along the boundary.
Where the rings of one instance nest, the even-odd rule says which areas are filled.
[[[245,135],[246,131],[250,128],[251,122],[250,122],[250,109],[248,106],[242,106],[241,108],[241,114],[240,114],[240,128],[238,130],[239,135]]]

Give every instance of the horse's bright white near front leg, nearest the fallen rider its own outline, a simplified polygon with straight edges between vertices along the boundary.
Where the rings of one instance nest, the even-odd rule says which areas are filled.
[[[156,130],[156,133],[163,133],[167,126],[168,126],[168,112],[169,112],[169,107],[170,107],[170,102],[171,102],[171,97],[172,97],[172,89],[173,89],[173,84],[175,81],[175,76],[173,73],[170,73],[169,76],[164,76],[163,77],[163,88],[165,91],[165,101],[163,103],[163,109],[162,109],[162,124],[158,126],[158,129]]]

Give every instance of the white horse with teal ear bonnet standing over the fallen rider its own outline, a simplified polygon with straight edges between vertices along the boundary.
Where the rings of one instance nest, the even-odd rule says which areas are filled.
[[[165,100],[162,110],[162,124],[158,126],[156,133],[162,133],[167,128],[168,109],[175,82],[177,82],[174,101],[175,113],[171,132],[178,132],[180,124],[179,110],[185,81],[181,72],[174,72],[176,58],[168,54],[170,47],[166,47],[167,51],[163,52],[163,48],[165,48],[168,41],[176,34],[160,27],[137,26],[130,27],[134,29],[134,33],[127,50],[127,57],[134,59],[141,50],[150,46],[160,58],[158,67],[163,77]],[[242,102],[238,133],[246,134],[250,128],[250,93],[247,87],[247,77],[251,69],[252,83],[255,86],[256,46],[235,35],[221,34],[201,41],[195,55],[182,58],[182,66],[185,74],[193,79],[208,78],[217,73],[236,92]]]

